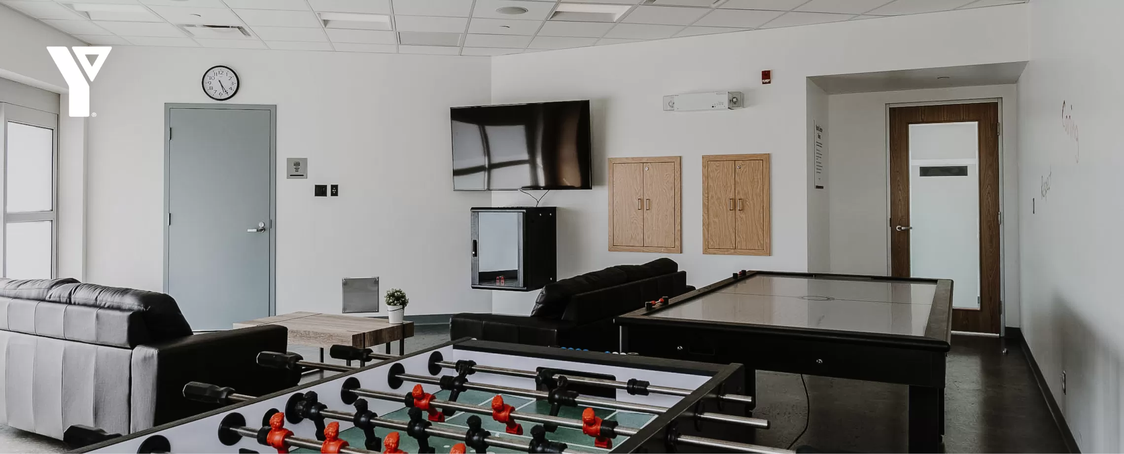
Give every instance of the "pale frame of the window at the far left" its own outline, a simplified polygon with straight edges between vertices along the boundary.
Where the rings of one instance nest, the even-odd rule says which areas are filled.
[[[51,210],[8,212],[9,122],[51,129]],[[8,224],[51,221],[51,276],[58,275],[58,116],[0,102],[0,276],[8,275]]]

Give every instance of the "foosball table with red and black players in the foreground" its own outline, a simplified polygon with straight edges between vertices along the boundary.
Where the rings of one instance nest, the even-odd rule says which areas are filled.
[[[263,352],[278,373],[334,375],[269,396],[189,383],[217,409],[127,436],[74,426],[88,453],[791,453],[752,444],[744,367],[472,339],[404,356],[335,346],[350,366]]]

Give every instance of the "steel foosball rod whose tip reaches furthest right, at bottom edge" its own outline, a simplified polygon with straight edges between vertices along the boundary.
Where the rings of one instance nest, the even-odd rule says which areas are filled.
[[[375,390],[369,390],[369,389],[362,389],[362,388],[350,389],[347,391],[353,392],[355,396],[369,397],[369,398],[372,398],[372,399],[380,399],[380,400],[388,400],[388,401],[401,401],[402,400],[402,394],[398,394],[398,393],[393,393],[393,392],[387,392],[387,391],[375,391]],[[471,403],[453,402],[453,401],[448,401],[448,400],[430,399],[429,400],[429,405],[432,405],[434,407],[437,407],[437,408],[441,408],[441,409],[446,409],[447,408],[450,410],[460,410],[460,411],[471,412],[471,414],[479,414],[479,415],[491,415],[492,414],[492,410],[490,408],[487,408],[487,407],[483,407],[483,406],[475,406],[475,405],[471,405]],[[550,415],[527,414],[527,412],[522,412],[522,411],[511,411],[511,417],[515,418],[515,419],[517,419],[517,420],[522,419],[522,420],[531,421],[531,423],[553,424],[553,425],[556,425],[556,426],[560,426],[560,427],[570,427],[570,428],[574,428],[574,429],[578,429],[578,430],[581,430],[581,428],[583,426],[582,421],[579,420],[579,419],[563,418],[563,417],[560,417],[560,416],[550,416]],[[616,427],[613,428],[613,432],[615,432],[617,434],[620,434],[620,435],[626,435],[626,436],[631,437],[631,436],[636,435],[640,432],[640,429],[638,428],[633,428],[633,427],[616,426]],[[679,442],[679,443],[688,444],[688,445],[703,446],[703,447],[717,447],[717,448],[729,450],[729,451],[735,451],[735,452],[740,452],[740,453],[755,453],[755,454],[792,454],[792,453],[795,453],[795,451],[789,451],[789,450],[778,450],[778,448],[769,447],[769,446],[751,445],[751,444],[747,444],[747,443],[726,442],[726,441],[723,441],[723,439],[704,438],[704,437],[696,437],[696,436],[689,436],[689,435],[677,435],[676,436],[676,441]]]

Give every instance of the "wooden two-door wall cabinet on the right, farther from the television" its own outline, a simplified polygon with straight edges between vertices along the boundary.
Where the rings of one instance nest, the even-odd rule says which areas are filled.
[[[703,156],[703,253],[772,255],[769,155]]]

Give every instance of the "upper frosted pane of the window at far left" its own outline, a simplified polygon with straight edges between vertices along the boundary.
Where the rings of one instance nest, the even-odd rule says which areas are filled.
[[[51,211],[54,130],[8,121],[8,212]]]

